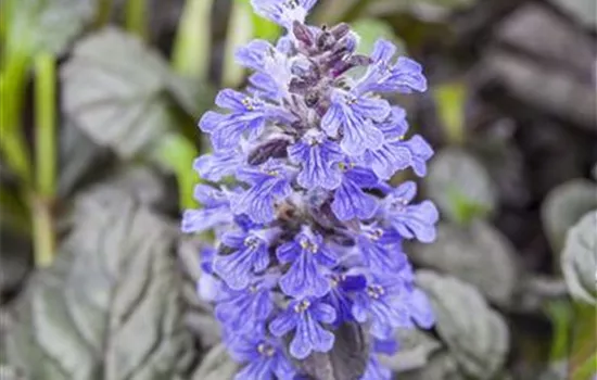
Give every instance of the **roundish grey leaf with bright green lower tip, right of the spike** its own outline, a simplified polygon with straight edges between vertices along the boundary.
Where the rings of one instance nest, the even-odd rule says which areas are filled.
[[[458,148],[446,148],[433,157],[424,185],[442,215],[458,224],[487,216],[497,206],[495,185],[487,170]]]

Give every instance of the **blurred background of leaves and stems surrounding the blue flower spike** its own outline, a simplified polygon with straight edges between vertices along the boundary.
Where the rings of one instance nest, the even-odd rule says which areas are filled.
[[[2,0],[0,379],[231,379],[198,252],[196,121],[241,88],[233,52],[281,30],[247,0]],[[393,102],[435,149],[434,244],[408,246],[437,314],[401,379],[594,379],[594,0],[320,0],[425,67]],[[411,178],[398,174],[395,183]],[[344,380],[344,379],[338,379]]]

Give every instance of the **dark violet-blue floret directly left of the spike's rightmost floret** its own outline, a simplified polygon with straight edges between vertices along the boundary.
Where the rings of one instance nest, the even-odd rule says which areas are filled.
[[[378,202],[361,189],[374,187],[378,179],[368,169],[352,167],[352,164],[345,164],[344,167],[346,166],[348,168],[344,173],[342,185],[334,192],[332,211],[340,220],[368,219],[376,214]]]

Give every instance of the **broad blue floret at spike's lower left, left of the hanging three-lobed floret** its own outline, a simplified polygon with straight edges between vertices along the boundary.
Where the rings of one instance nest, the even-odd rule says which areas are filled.
[[[251,286],[243,290],[221,287],[215,314],[229,331],[243,332],[255,329],[274,312],[276,279],[271,276],[255,277]],[[242,313],[239,313],[242,311]]]

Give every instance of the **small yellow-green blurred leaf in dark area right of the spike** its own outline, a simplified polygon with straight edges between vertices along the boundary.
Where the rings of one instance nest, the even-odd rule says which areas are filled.
[[[460,81],[444,84],[435,87],[432,93],[447,141],[453,144],[461,144],[466,138],[466,85]]]

